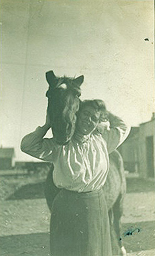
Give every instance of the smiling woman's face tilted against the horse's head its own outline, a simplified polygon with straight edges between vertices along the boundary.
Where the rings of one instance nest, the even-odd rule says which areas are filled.
[[[95,130],[99,124],[100,111],[96,111],[91,106],[85,106],[79,110],[76,121],[76,130],[82,135],[88,135]]]

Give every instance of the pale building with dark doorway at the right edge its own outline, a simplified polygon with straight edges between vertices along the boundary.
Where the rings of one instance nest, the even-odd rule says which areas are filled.
[[[154,177],[155,115],[139,127],[132,127],[130,135],[119,147],[125,170],[141,177]]]

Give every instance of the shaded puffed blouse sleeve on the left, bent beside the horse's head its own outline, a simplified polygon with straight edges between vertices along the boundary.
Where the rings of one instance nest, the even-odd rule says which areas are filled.
[[[56,156],[56,145],[51,139],[43,139],[45,131],[39,126],[34,132],[23,137],[21,150],[32,157],[44,161],[53,161]]]

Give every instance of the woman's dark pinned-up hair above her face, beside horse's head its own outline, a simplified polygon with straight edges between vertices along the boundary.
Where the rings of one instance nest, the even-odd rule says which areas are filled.
[[[91,108],[94,108],[97,112],[100,112],[99,122],[105,121],[107,110],[106,105],[102,99],[86,99],[85,101],[80,101],[80,110],[86,106],[91,106]]]

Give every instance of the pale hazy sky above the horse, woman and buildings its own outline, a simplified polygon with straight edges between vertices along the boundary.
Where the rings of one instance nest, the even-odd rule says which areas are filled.
[[[35,161],[21,152],[20,143],[45,122],[48,70],[84,75],[81,99],[103,99],[131,126],[150,121],[153,0],[1,0],[0,5],[0,144],[15,148],[16,161]]]

